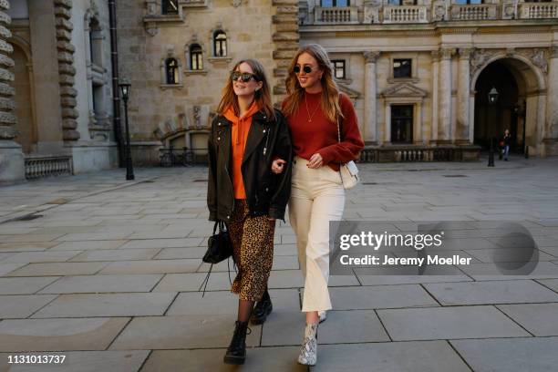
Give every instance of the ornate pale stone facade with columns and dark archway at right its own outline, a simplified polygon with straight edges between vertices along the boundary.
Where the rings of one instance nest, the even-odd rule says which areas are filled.
[[[488,147],[510,129],[515,150],[558,154],[557,2],[299,4],[301,44],[321,44],[336,61],[371,149],[393,160],[398,148],[426,160],[437,148],[474,158],[471,145]]]

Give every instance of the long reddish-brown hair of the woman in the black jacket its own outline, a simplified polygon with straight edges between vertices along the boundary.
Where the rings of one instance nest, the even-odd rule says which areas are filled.
[[[263,69],[262,64],[255,59],[242,59],[238,61],[236,65],[234,65],[233,71],[235,71],[243,63],[252,67],[253,78],[256,81],[262,82],[262,88],[256,90],[254,93],[254,100],[256,104],[269,119],[274,120],[275,115],[274,106],[271,100],[271,92],[269,89],[269,84],[267,83],[267,78],[265,77],[265,70]],[[217,112],[221,115],[224,115],[225,111],[230,107],[233,107],[234,113],[236,115],[240,115],[238,98],[236,98],[236,95],[234,94],[233,80],[231,80],[231,78],[227,80],[227,84],[222,89],[222,98],[221,102],[219,102],[219,106],[217,107]]]

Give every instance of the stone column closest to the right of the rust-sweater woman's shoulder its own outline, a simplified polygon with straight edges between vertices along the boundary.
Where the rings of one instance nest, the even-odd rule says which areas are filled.
[[[365,57],[365,107],[364,140],[377,144],[376,60],[380,52],[364,52]]]

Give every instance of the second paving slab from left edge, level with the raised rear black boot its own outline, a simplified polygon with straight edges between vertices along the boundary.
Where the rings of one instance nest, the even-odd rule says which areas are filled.
[[[34,318],[163,315],[176,294],[61,294]]]

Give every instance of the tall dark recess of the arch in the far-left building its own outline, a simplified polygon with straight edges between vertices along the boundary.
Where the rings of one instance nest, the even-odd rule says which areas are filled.
[[[14,43],[14,81],[11,86],[15,88],[15,116],[17,117],[17,130],[19,135],[15,141],[28,154],[36,150],[36,125],[33,119],[31,99],[31,81],[29,74],[29,60],[25,51]]]

